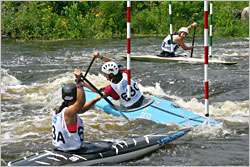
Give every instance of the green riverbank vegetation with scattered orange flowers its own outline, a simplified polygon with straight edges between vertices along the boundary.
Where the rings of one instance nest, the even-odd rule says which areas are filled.
[[[59,40],[110,38],[126,35],[126,1],[4,1],[2,39]],[[248,1],[213,2],[214,37],[249,37],[249,18],[240,12]],[[169,34],[168,1],[132,1],[131,35]],[[198,15],[195,16],[195,13]],[[173,30],[194,21],[204,35],[204,2],[173,1]]]

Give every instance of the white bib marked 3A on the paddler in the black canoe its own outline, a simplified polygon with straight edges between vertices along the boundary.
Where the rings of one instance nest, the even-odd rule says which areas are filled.
[[[84,126],[82,119],[77,115],[77,130],[69,132],[64,113],[65,107],[60,113],[54,114],[52,117],[52,144],[59,150],[69,151],[77,150],[83,146]]]

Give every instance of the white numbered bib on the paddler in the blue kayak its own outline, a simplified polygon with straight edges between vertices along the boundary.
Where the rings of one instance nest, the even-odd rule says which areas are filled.
[[[122,104],[124,107],[130,107],[133,104],[135,104],[140,97],[142,96],[142,92],[140,91],[138,85],[131,79],[131,98],[127,98],[127,74],[122,74],[122,80],[114,84],[112,83],[112,88],[116,91],[116,93],[120,96],[120,104]]]

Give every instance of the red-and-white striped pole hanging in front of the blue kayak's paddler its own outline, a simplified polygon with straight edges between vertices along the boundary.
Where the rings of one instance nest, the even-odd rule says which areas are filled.
[[[130,87],[130,7],[131,2],[127,1],[127,97],[131,98],[131,87]]]

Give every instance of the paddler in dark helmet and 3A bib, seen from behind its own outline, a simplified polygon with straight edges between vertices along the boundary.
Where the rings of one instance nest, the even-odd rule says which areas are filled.
[[[79,114],[86,112],[91,106],[101,99],[98,95],[93,100],[86,102],[83,81],[80,79],[82,72],[74,71],[75,83],[62,86],[62,105],[52,117],[52,144],[62,151],[78,150],[83,147],[84,126]]]

